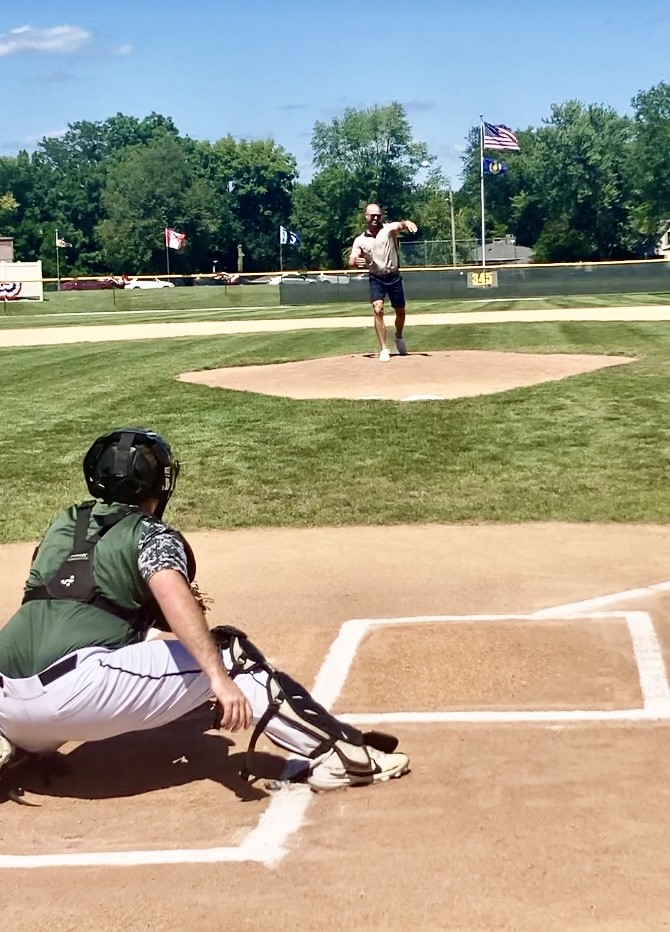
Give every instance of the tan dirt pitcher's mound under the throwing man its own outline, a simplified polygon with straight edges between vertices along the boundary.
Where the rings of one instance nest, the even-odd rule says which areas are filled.
[[[285,398],[441,400],[490,395],[633,362],[628,356],[414,352],[379,362],[374,355],[328,356],[268,366],[183,372],[182,382]]]

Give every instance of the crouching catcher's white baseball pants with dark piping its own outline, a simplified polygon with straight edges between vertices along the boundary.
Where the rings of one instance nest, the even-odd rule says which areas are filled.
[[[74,653],[75,669],[47,686],[39,676],[3,677],[0,732],[25,751],[55,751],[67,741],[100,741],[158,728],[211,695],[208,677],[180,641],[143,641],[116,650],[87,647]],[[228,651],[222,654],[230,669]],[[251,705],[254,723],[269,704],[267,678],[264,671],[235,678]],[[305,757],[318,743],[277,716],[270,719],[265,734]]]

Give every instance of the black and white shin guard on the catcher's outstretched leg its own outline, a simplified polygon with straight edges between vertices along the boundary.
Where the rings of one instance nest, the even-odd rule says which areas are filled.
[[[361,732],[352,725],[340,722],[310,695],[300,683],[270,664],[262,652],[247,638],[243,631],[227,625],[214,628],[214,640],[221,650],[230,653],[232,668],[230,676],[262,670],[267,674],[266,689],[268,706],[260,717],[249,742],[246,763],[242,776],[250,776],[251,755],[260,734],[276,716],[285,724],[307,736],[314,749],[304,756],[312,760],[335,750],[345,769],[352,774],[369,776],[374,772],[366,745],[386,753],[392,752],[397,739],[383,732]],[[295,748],[284,745],[273,735],[268,735],[275,744],[290,751]]]

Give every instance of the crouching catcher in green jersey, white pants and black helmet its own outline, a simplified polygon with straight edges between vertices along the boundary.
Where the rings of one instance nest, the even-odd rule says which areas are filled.
[[[83,465],[93,500],[51,522],[0,631],[0,777],[21,752],[158,728],[212,697],[226,730],[255,725],[250,750],[262,731],[305,759],[313,790],[408,772],[392,736],[338,721],[239,629],[209,629],[193,552],[162,520],[179,464],[161,436],[113,430]],[[177,639],[145,640],[155,627]]]

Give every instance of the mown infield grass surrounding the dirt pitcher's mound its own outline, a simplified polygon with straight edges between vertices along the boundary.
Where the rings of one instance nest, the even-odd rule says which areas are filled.
[[[360,310],[360,308],[359,308]],[[670,522],[670,328],[650,323],[420,327],[413,350],[620,353],[638,361],[444,402],[297,401],[179,372],[368,352],[367,331],[0,350],[3,541],[83,499],[89,443],[124,423],[183,462],[184,528],[398,522]]]

